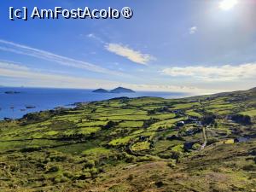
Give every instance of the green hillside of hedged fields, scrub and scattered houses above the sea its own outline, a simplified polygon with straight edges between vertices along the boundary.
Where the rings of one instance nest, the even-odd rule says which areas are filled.
[[[0,191],[255,191],[256,91],[0,122]]]

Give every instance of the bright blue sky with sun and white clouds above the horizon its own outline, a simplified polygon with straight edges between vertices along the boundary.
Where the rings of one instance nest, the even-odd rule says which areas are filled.
[[[10,6],[128,6],[134,15],[131,20],[11,21]],[[92,89],[122,85],[195,93],[245,90],[256,86],[255,10],[255,0],[3,0],[0,84]]]

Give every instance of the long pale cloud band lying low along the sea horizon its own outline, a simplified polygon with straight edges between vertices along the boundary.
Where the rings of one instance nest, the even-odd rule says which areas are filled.
[[[208,94],[223,90],[204,90],[191,86],[175,86],[168,84],[128,84],[103,79],[89,79],[82,77],[69,76],[60,73],[40,72],[35,68],[23,67],[20,65],[0,62],[0,77],[10,78],[15,84],[38,87],[57,87],[57,88],[82,88],[96,89],[103,87],[113,89],[117,86],[124,86],[134,90],[156,90],[156,91],[176,91],[190,93],[191,95]]]

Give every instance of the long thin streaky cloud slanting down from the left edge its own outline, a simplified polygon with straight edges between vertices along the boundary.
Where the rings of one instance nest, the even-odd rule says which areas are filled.
[[[53,61],[62,66],[80,68],[84,70],[89,70],[91,72],[108,73],[108,74],[115,74],[115,75],[119,74],[119,73],[110,71],[106,68],[91,64],[90,62],[79,61],[79,60],[75,60],[75,59],[72,59],[66,56],[61,56],[61,55],[55,55],[48,51],[44,51],[41,49],[34,49],[26,45],[15,44],[13,42],[5,41],[2,39],[0,39],[0,50],[8,51],[8,52],[12,52],[20,55],[29,55],[32,57],[46,60],[46,61]]]

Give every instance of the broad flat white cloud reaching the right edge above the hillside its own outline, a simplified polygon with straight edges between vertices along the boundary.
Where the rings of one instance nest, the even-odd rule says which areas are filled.
[[[241,79],[256,79],[256,63],[241,64],[238,66],[190,66],[170,67],[162,73],[172,77],[192,77],[207,81],[234,81]]]

